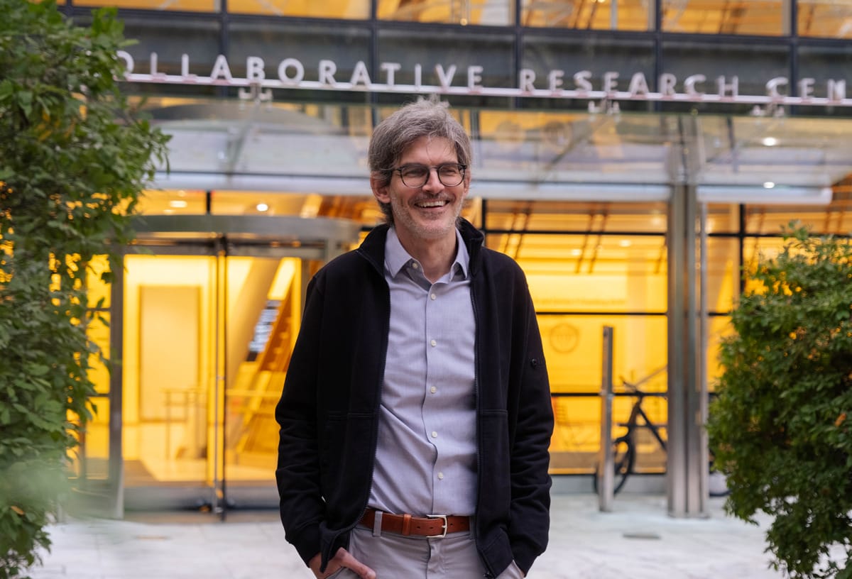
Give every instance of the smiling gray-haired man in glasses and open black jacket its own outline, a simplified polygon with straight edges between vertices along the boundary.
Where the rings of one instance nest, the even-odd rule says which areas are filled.
[[[525,576],[550,525],[550,386],[520,267],[459,217],[471,147],[423,100],[373,132],[386,224],[311,280],[276,470],[317,577]]]

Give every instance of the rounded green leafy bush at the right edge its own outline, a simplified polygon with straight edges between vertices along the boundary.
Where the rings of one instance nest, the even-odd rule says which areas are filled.
[[[708,424],[726,508],[791,577],[852,577],[852,244],[795,223],[748,272]],[[831,553],[831,557],[830,557]],[[845,557],[845,561],[843,560]]]

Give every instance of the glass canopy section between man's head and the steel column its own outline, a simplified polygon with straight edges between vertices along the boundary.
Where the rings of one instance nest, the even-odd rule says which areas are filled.
[[[676,123],[650,115],[532,111],[481,111],[478,120],[475,194],[602,202],[671,195]]]

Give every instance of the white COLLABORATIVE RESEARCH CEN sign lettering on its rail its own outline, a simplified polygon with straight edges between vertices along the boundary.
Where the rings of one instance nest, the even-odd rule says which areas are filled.
[[[808,106],[852,106],[852,98],[846,97],[846,80],[830,78],[822,87],[816,87],[814,78],[801,78],[796,83],[797,96],[789,95],[791,80],[787,77],[770,78],[763,95],[740,95],[739,77],[717,77],[709,79],[703,74],[693,74],[682,80],[674,74],[664,72],[659,76],[659,89],[648,89],[648,79],[642,72],[630,78],[621,77],[619,72],[604,72],[595,86],[593,74],[584,70],[574,72],[566,78],[566,72],[551,70],[538,77],[529,68],[521,69],[515,88],[486,87],[482,84],[485,69],[468,66],[459,70],[457,65],[437,64],[433,67],[438,84],[423,84],[423,65],[416,64],[407,71],[413,78],[411,84],[397,83],[397,73],[402,70],[398,62],[383,62],[379,65],[383,82],[375,83],[366,64],[355,63],[347,80],[341,80],[337,63],[320,60],[316,69],[317,80],[305,79],[305,66],[295,58],[280,60],[275,66],[275,76],[269,77],[267,63],[259,56],[245,60],[245,77],[233,77],[231,67],[224,54],[216,56],[210,76],[202,77],[189,72],[189,55],[181,55],[181,74],[171,75],[158,71],[157,53],[150,55],[150,72],[135,72],[135,61],[130,53],[119,50],[118,57],[124,60],[124,78],[134,83],[177,83],[214,84],[235,87],[261,87],[264,89],[331,89],[358,90],[386,93],[422,93],[445,95],[485,95],[509,97],[536,97],[550,99],[579,100],[654,100],[684,102],[741,103],[754,105],[808,105]],[[573,83],[567,86],[567,83]]]

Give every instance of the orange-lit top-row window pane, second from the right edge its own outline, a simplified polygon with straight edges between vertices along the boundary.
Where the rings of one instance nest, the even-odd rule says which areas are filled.
[[[660,10],[665,32],[790,33],[789,0],[661,0]]]

